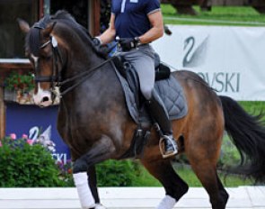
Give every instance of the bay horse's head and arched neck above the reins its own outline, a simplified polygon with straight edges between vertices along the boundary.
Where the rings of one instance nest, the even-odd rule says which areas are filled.
[[[25,52],[35,72],[35,104],[53,104],[55,86],[59,84],[60,95],[65,95],[82,83],[81,72],[89,72],[102,59],[96,53],[92,36],[66,11],[45,16],[32,27],[25,21],[18,22],[26,33]]]

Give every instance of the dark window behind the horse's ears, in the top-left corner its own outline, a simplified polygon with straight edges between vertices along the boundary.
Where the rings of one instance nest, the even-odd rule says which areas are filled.
[[[0,59],[24,57],[24,34],[17,18],[32,24],[38,20],[39,1],[0,0]]]

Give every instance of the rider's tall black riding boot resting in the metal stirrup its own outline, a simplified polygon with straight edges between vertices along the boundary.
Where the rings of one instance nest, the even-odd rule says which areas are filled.
[[[151,116],[155,122],[159,124],[160,129],[163,132],[163,136],[160,139],[160,150],[163,158],[168,158],[177,154],[178,145],[172,136],[172,124],[160,96],[157,95],[155,90],[153,90],[152,97],[146,104]],[[163,146],[161,146],[162,144]]]

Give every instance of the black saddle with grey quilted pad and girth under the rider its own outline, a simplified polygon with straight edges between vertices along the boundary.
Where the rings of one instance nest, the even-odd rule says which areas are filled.
[[[148,140],[152,118],[146,111],[145,99],[141,95],[137,71],[122,56],[112,59],[115,72],[123,88],[128,107],[128,113],[137,123],[130,149],[120,159],[139,158]],[[161,63],[158,54],[155,54],[155,90],[160,95],[168,111],[170,120],[184,117],[188,112],[188,105],[182,87],[176,77],[171,74],[170,68]]]

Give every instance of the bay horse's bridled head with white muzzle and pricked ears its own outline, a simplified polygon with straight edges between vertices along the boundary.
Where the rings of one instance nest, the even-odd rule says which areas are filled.
[[[22,32],[25,32],[25,53],[31,60],[35,74],[33,101],[40,106],[49,106],[55,100],[55,86],[59,81],[59,68],[62,65],[57,40],[52,32],[56,22],[44,17],[32,27],[19,20]]]

